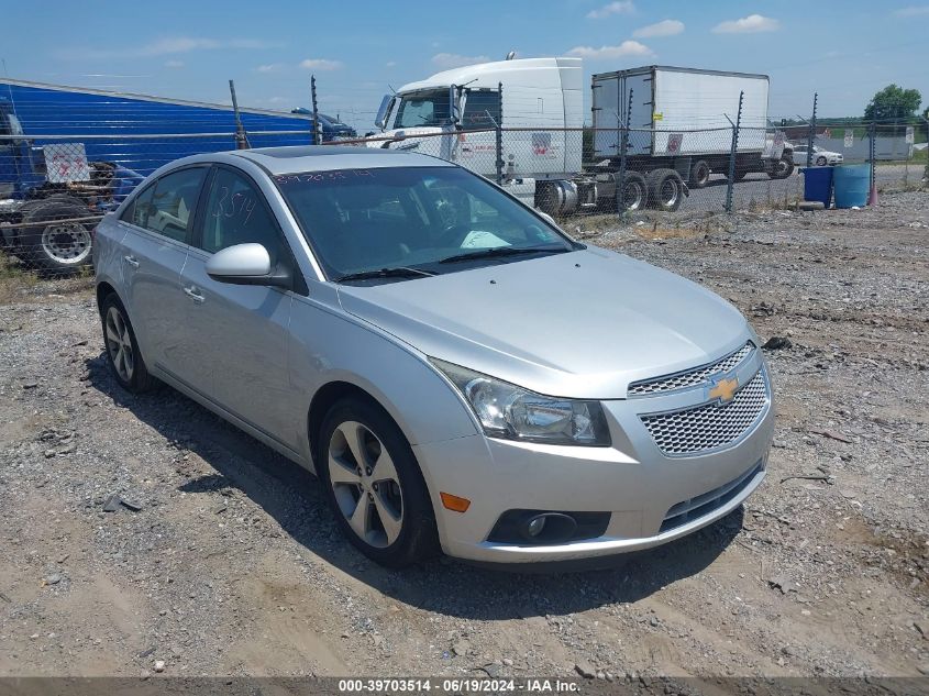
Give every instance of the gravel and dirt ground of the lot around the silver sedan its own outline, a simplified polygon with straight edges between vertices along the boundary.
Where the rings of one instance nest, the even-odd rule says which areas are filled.
[[[742,510],[607,571],[386,571],[309,474],[117,388],[90,292],[42,283],[0,306],[0,675],[929,674],[929,196],[598,229],[790,341]]]

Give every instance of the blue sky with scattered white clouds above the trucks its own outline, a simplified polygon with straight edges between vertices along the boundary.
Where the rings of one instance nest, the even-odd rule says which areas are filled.
[[[641,65],[761,73],[770,115],[859,115],[891,82],[929,103],[919,0],[0,0],[0,75],[289,111],[373,129],[390,87],[449,67],[574,55],[591,73]],[[16,26],[24,27],[16,31]],[[588,102],[589,106],[589,102]]]

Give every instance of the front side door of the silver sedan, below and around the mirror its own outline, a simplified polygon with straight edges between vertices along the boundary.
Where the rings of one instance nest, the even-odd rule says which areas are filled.
[[[181,274],[191,328],[187,351],[211,400],[292,448],[297,416],[287,364],[292,292],[219,283],[206,272],[212,254],[250,242],[268,251],[272,267],[286,263],[299,273],[261,189],[243,172],[217,166]]]

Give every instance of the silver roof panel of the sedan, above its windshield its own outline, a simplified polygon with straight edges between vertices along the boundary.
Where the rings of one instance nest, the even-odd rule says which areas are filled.
[[[327,169],[375,169],[384,167],[453,167],[455,165],[410,152],[383,150],[380,147],[354,147],[339,145],[290,145],[284,147],[258,147],[235,150],[235,157],[250,159],[273,176],[300,172],[323,172]]]

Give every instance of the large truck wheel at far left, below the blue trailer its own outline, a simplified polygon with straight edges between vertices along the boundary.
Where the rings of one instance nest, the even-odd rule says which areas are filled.
[[[70,198],[53,198],[31,207],[23,216],[21,256],[49,275],[71,275],[92,263],[93,223],[62,222],[87,218],[87,206]]]

